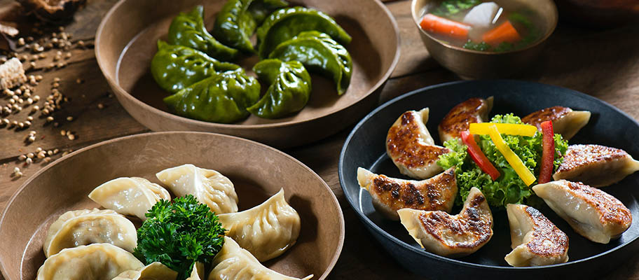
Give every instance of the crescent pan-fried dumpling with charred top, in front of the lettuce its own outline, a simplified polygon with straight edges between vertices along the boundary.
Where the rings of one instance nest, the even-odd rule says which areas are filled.
[[[397,210],[401,224],[422,248],[458,258],[479,250],[493,237],[493,214],[486,197],[471,188],[460,214],[444,211]]]

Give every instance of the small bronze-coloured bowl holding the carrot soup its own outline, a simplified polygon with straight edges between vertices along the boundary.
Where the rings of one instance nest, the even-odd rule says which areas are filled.
[[[505,78],[521,72],[539,57],[544,42],[557,26],[558,13],[552,0],[518,0],[527,8],[539,13],[546,23],[542,38],[525,48],[507,52],[468,50],[448,45],[428,34],[419,25],[424,7],[436,0],[413,0],[411,12],[413,22],[419,29],[422,42],[430,55],[444,68],[457,73],[462,78]]]

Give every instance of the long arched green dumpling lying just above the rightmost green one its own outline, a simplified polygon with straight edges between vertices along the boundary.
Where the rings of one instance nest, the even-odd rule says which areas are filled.
[[[343,45],[350,43],[351,37],[329,15],[310,8],[294,7],[276,10],[257,29],[259,56],[266,58],[277,45],[287,41],[302,31],[320,31]]]

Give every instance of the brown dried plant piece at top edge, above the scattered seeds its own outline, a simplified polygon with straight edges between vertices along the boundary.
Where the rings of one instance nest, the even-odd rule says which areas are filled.
[[[18,0],[28,13],[46,22],[60,22],[72,18],[86,0]]]

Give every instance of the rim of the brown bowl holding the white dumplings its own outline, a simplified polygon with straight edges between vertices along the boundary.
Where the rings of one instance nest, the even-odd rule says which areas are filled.
[[[310,172],[313,176],[315,176],[315,178],[317,178],[320,182],[322,182],[322,186],[324,186],[324,188],[326,188],[329,191],[329,194],[331,196],[331,200],[334,203],[334,206],[337,209],[337,213],[338,213],[338,219],[340,221],[340,223],[338,224],[339,226],[339,236],[338,236],[338,244],[336,247],[336,251],[335,254],[333,255],[333,258],[331,258],[331,261],[329,262],[329,265],[327,265],[327,269],[326,271],[324,271],[324,273],[318,278],[320,280],[322,279],[326,279],[327,276],[329,276],[330,272],[333,270],[333,268],[335,267],[337,260],[339,259],[339,256],[341,255],[342,252],[342,248],[344,245],[344,237],[345,237],[345,223],[344,223],[344,214],[342,212],[342,208],[341,205],[339,204],[337,197],[335,196],[335,193],[333,193],[333,190],[331,190],[331,188],[329,187],[329,185],[326,183],[326,181],[324,181],[324,179],[322,179],[322,177],[320,177],[320,175],[317,175],[317,173],[315,173],[312,169],[310,169],[310,167],[304,165],[302,162],[300,162],[299,160],[297,160],[296,158],[293,158],[291,155],[288,155],[287,153],[284,153],[280,150],[277,150],[276,148],[273,148],[271,146],[265,145],[265,144],[261,144],[259,142],[256,141],[252,141],[249,139],[244,139],[241,137],[234,137],[231,135],[226,135],[226,134],[219,134],[219,133],[213,133],[213,132],[146,132],[146,133],[141,133],[141,134],[134,134],[134,135],[128,135],[125,137],[118,137],[118,138],[114,138],[114,139],[109,139],[107,141],[102,141],[102,142],[98,142],[96,144],[92,144],[90,146],[86,146],[84,148],[79,149],[78,151],[74,151],[72,153],[69,153],[69,155],[66,155],[62,158],[59,158],[53,162],[51,162],[49,165],[47,165],[46,167],[43,167],[42,169],[40,169],[38,172],[36,172],[33,176],[31,176],[29,179],[27,179],[27,181],[25,181],[25,183],[22,183],[22,185],[18,188],[18,190],[15,191],[15,193],[13,193],[13,195],[11,195],[11,198],[8,200],[5,209],[2,211],[2,215],[0,216],[0,229],[3,228],[4,225],[4,219],[5,216],[8,212],[8,210],[11,208],[11,204],[13,204],[13,201],[18,197],[18,195],[20,195],[20,193],[22,193],[22,190],[27,188],[27,186],[29,186],[29,184],[34,181],[35,179],[37,179],[41,174],[43,174],[44,172],[47,172],[48,169],[51,169],[53,167],[55,167],[56,165],[59,165],[60,162],[64,162],[65,160],[69,160],[71,158],[73,158],[74,156],[81,154],[85,151],[88,151],[92,148],[97,148],[99,146],[104,146],[104,145],[108,145],[108,144],[113,144],[115,142],[118,141],[123,141],[123,140],[127,140],[127,139],[135,139],[135,138],[143,138],[143,137],[153,137],[156,135],[175,135],[175,134],[205,134],[209,137],[221,137],[221,138],[227,138],[227,139],[233,139],[233,141],[245,141],[247,142],[247,144],[252,144],[254,146],[258,146],[260,148],[264,148],[270,152],[273,153],[277,153],[280,155],[283,155],[284,158],[287,158],[288,160],[291,160],[291,162],[296,163],[297,165],[299,165],[300,167],[302,167],[303,169],[306,169],[308,172]],[[1,258],[0,256],[0,272],[2,274],[2,276],[4,276],[5,279],[10,279],[9,276],[6,273],[6,267],[4,265],[4,258]]]

